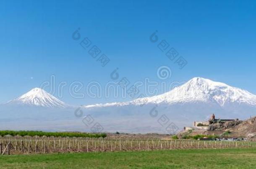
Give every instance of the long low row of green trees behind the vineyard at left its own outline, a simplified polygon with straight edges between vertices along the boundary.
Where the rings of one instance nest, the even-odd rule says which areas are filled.
[[[105,138],[107,134],[91,134],[78,132],[44,132],[44,131],[0,131],[0,136],[47,136],[47,137],[89,137],[89,138]]]

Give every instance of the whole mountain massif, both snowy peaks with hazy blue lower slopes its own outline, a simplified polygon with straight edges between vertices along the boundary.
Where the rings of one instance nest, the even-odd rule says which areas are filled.
[[[205,78],[193,78],[167,93],[128,102],[65,107],[54,96],[34,88],[8,104],[30,106],[0,105],[2,129],[91,132],[98,123],[103,132],[167,134],[172,125],[173,134],[193,121],[208,120],[212,113],[221,119],[256,116],[255,95]],[[86,115],[93,121],[91,126],[84,120]]]

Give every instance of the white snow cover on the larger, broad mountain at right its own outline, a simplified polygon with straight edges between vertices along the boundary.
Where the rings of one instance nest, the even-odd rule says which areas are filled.
[[[147,98],[138,98],[130,102],[106,103],[84,106],[84,108],[97,108],[108,106],[141,105],[144,103],[217,103],[225,106],[230,103],[256,106],[256,95],[240,88],[228,86],[225,83],[211,81],[206,78],[192,78],[182,86],[176,87],[167,93]]]

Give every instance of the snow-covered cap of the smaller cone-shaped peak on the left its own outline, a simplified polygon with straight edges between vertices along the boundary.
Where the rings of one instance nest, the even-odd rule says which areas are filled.
[[[50,93],[47,93],[41,88],[33,88],[24,95],[15,98],[8,102],[8,104],[22,104],[29,106],[42,106],[42,107],[66,107],[66,104],[56,97],[52,96]]]

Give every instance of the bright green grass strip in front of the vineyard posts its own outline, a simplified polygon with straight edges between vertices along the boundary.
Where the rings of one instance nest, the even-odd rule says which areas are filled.
[[[256,149],[208,149],[0,156],[1,168],[254,168]]]

